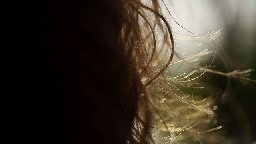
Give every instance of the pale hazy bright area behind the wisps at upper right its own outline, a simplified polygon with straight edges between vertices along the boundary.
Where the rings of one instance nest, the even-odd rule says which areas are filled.
[[[167,0],[164,2],[178,24],[196,33],[192,34],[181,28],[163,8],[162,12],[174,32],[176,52],[189,49],[200,52],[204,47],[196,48],[200,47],[199,42],[209,41],[225,50],[230,49],[231,57],[237,62],[238,67],[250,66],[248,63],[255,54],[256,45],[256,0]],[[163,3],[162,6],[164,7]],[[220,29],[222,29],[221,33],[197,38]]]

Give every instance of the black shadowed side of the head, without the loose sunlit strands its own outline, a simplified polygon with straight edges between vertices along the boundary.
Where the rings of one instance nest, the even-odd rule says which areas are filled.
[[[139,1],[17,1],[7,7],[12,140],[147,143],[148,106],[146,130],[132,130],[139,100],[147,105],[137,55]]]

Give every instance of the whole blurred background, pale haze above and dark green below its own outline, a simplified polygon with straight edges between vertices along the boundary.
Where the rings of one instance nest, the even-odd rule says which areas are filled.
[[[172,0],[166,2],[166,6],[173,18],[166,9],[162,11],[175,33],[177,52],[182,53],[183,50],[183,53],[186,53],[193,45],[200,45],[200,41],[210,41],[214,43],[213,49],[216,50],[212,64],[213,67],[216,66],[215,70],[232,72],[256,68],[256,0]],[[221,32],[218,32],[219,30]],[[208,39],[204,38],[204,34],[214,32],[218,33]],[[191,39],[196,41],[196,44],[193,44]],[[210,59],[213,59],[213,56]],[[250,76],[246,77],[256,80],[256,71],[250,72]],[[254,142],[256,83],[209,72],[202,76],[201,82],[212,84],[212,89],[220,93],[219,95],[226,94],[224,100],[220,100],[216,111],[216,124],[223,126],[221,130],[216,130],[220,135],[206,134],[208,141],[204,142]]]

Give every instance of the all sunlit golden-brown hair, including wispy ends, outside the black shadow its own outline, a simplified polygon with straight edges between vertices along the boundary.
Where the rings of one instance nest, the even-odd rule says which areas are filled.
[[[172,62],[174,36],[169,23],[161,14],[159,1],[127,0],[123,2],[124,4],[121,5],[124,6],[122,8],[124,11],[120,19],[121,30],[118,42],[121,43],[122,57],[129,63],[128,69],[134,70],[131,74],[136,74],[136,76],[130,76],[131,82],[136,81],[132,78],[140,78],[140,81],[133,81],[132,84],[137,88],[138,93],[135,94],[137,104],[128,143],[182,143],[194,140],[202,143],[202,134],[222,128],[213,124],[214,111],[218,109],[218,103],[226,100],[228,88],[222,96],[214,96],[211,88],[199,84],[197,78],[208,71],[255,82],[245,78],[252,69],[242,72],[218,72],[210,69],[212,61],[210,66],[207,64],[200,66],[199,60],[196,59],[211,53],[216,55],[216,51],[209,51],[206,48],[186,58],[175,54],[180,60]],[[170,14],[164,1],[162,6]],[[171,14],[170,16],[172,17]],[[212,31],[200,37],[209,37],[220,31]],[[209,43],[207,45],[210,48],[214,47]],[[177,67],[175,68],[174,64],[179,62],[184,62],[195,69],[186,75],[186,72],[180,72]],[[223,62],[228,69],[227,60],[224,59]],[[166,72],[167,69],[170,71],[170,66],[173,66],[172,68],[176,71]],[[192,90],[192,96],[186,94],[189,93],[189,88]]]

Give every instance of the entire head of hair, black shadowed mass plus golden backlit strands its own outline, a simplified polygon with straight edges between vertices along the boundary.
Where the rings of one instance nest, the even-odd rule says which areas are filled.
[[[198,78],[206,71],[240,78],[251,70],[198,65],[214,50],[174,53],[160,3],[166,7],[158,0],[7,2],[10,140],[202,143],[201,134],[220,129],[212,124],[220,100]],[[192,72],[175,65],[181,62]]]

